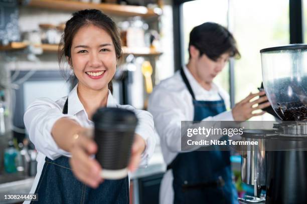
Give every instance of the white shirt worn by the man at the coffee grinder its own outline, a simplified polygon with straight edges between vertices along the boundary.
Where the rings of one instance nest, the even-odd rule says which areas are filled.
[[[226,107],[230,107],[229,95],[216,84],[205,90],[192,76],[187,67],[184,72],[198,101],[215,101],[224,99]],[[194,106],[190,92],[184,83],[180,71],[171,78],[163,80],[149,97],[148,111],[154,116],[155,127],[161,139],[161,149],[164,160],[170,164],[181,151],[181,121],[193,121]],[[206,121],[232,121],[232,112],[226,111]],[[160,203],[173,203],[173,173],[165,173],[160,187]]]

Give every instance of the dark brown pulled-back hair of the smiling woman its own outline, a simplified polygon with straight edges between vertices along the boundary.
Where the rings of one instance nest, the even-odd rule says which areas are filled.
[[[73,38],[80,28],[87,25],[94,25],[105,30],[112,38],[117,61],[119,61],[122,57],[119,32],[116,24],[109,16],[96,9],[75,12],[73,13],[72,18],[66,22],[64,34],[62,35],[58,50],[60,70],[67,81],[77,81],[74,74],[72,74],[70,71],[67,72],[67,69],[64,69],[64,64],[66,57],[68,57],[68,63],[71,66],[71,45]],[[112,92],[112,81],[109,82],[108,88]]]

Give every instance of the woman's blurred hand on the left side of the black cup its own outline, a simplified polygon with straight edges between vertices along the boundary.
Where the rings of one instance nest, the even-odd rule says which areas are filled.
[[[74,136],[70,150],[70,166],[74,175],[83,183],[96,188],[103,181],[98,161],[91,157],[97,152],[97,144],[92,139],[92,130],[83,128]]]

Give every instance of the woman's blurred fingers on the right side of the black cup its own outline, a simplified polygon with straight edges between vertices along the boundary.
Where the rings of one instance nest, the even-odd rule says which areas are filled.
[[[131,148],[131,157],[130,162],[128,164],[128,169],[130,171],[135,171],[138,167],[138,164],[141,159],[141,154],[145,150],[146,142],[145,140],[138,134],[134,135],[134,142]]]

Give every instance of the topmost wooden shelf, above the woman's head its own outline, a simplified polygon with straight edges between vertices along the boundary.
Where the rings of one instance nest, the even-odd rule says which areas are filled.
[[[160,8],[147,9],[142,6],[115,5],[115,4],[93,4],[83,2],[73,2],[64,0],[31,0],[28,4],[30,7],[55,9],[62,11],[79,11],[84,9],[98,9],[109,15],[115,16],[142,16],[142,17],[158,17],[162,15]]]

